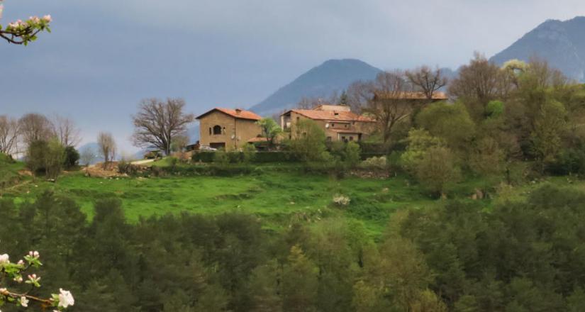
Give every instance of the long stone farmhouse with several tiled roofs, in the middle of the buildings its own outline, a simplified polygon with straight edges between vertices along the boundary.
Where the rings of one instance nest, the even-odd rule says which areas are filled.
[[[313,109],[291,109],[280,116],[282,130],[293,138],[293,129],[299,121],[311,119],[325,131],[328,141],[359,141],[375,130],[372,118],[353,113],[350,106],[319,105]]]

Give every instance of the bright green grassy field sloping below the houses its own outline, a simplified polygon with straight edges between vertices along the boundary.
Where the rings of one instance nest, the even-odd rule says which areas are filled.
[[[160,165],[160,164],[157,164]],[[22,163],[3,164],[0,172],[14,177]],[[274,165],[272,165],[274,167]],[[267,166],[266,168],[269,168]],[[219,214],[225,212],[253,213],[262,218],[267,228],[282,228],[295,218],[317,222],[323,218],[342,217],[362,221],[372,235],[379,235],[392,213],[403,208],[431,208],[442,204],[431,199],[418,184],[406,176],[390,179],[335,179],[323,174],[304,174],[295,170],[262,170],[259,174],[235,177],[152,177],[104,179],[84,177],[81,173],[64,174],[57,182],[42,178],[19,177],[15,185],[4,188],[4,198],[16,202],[34,201],[43,191],[74,199],[91,219],[94,202],[116,197],[130,222],[143,217],[166,213]],[[281,168],[282,169],[282,168]],[[16,174],[18,175],[18,174]],[[555,184],[572,184],[566,178],[549,178]],[[525,184],[477,201],[489,208],[494,202],[518,200],[537,184]],[[494,182],[469,177],[452,186],[451,198],[469,199],[473,190],[494,189]],[[579,184],[579,187],[582,187]],[[347,206],[333,204],[333,196],[350,198]],[[501,198],[500,198],[501,197]]]

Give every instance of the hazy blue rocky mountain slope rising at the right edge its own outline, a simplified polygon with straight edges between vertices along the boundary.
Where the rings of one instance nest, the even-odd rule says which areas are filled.
[[[528,61],[539,57],[567,77],[585,82],[584,33],[585,16],[568,21],[548,20],[490,60],[501,65],[512,59]]]

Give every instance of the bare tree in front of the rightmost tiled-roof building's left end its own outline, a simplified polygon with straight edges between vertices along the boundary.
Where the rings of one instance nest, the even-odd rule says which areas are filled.
[[[381,72],[373,85],[374,99],[368,101],[362,109],[373,116],[378,122],[379,130],[384,140],[388,142],[394,127],[411,116],[414,111],[414,102],[411,99],[412,84],[408,82],[403,72]]]

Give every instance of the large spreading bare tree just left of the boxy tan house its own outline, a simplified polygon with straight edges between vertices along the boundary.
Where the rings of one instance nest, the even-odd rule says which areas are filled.
[[[193,114],[183,112],[184,106],[183,99],[143,100],[138,114],[133,116],[134,145],[155,147],[169,155],[173,138],[184,133],[195,120]]]

